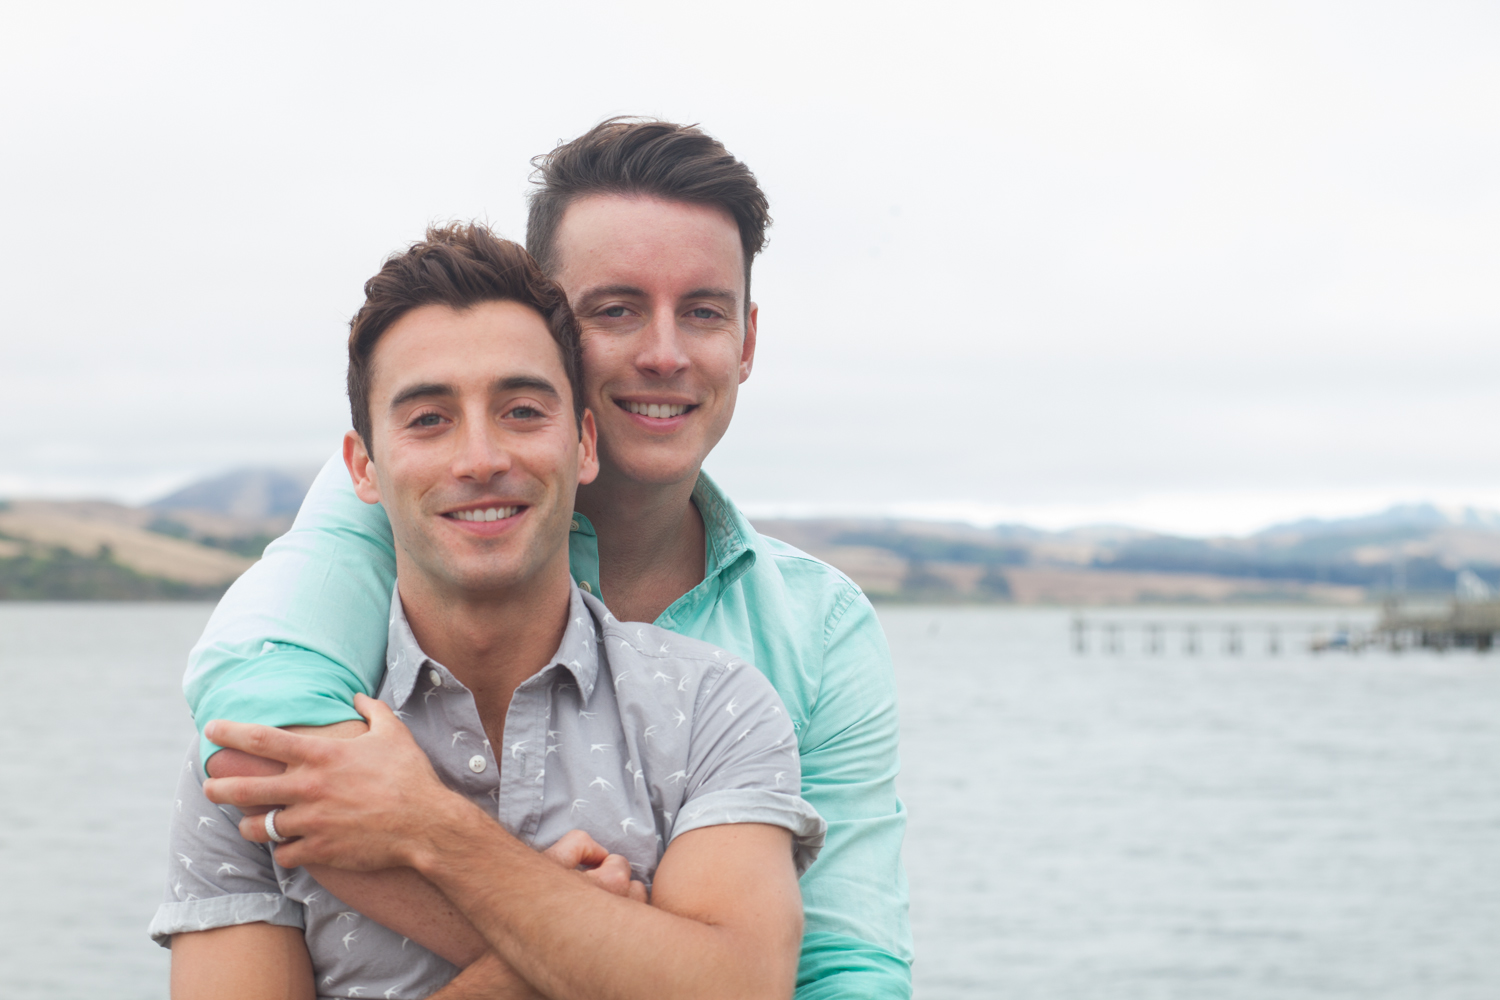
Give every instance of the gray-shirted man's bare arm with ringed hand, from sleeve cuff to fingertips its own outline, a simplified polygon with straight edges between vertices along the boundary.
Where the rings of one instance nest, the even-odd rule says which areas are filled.
[[[470,969],[476,976],[504,967],[518,988],[558,1000],[790,996],[801,900],[786,831],[747,823],[678,837],[646,906],[510,837],[442,786],[388,708],[356,708],[370,730],[348,741],[213,723],[214,742],[286,771],[214,778],[204,792],[243,810],[282,804],[276,826],[298,838],[276,849],[284,867],[412,868],[483,937],[490,955]],[[266,841],[258,819],[242,832]]]

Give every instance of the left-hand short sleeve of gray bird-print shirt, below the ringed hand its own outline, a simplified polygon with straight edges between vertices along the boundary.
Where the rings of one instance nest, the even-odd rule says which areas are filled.
[[[166,892],[152,921],[152,940],[171,948],[172,934],[237,924],[304,927],[300,903],[285,897],[266,844],[240,837],[242,813],[202,793],[198,741],[177,778]]]

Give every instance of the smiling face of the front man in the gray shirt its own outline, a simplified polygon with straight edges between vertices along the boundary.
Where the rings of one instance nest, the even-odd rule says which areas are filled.
[[[594,423],[574,421],[536,310],[412,309],[375,345],[369,402],[374,454],[350,432],[344,456],[360,499],[386,507],[404,588],[412,574],[468,594],[567,579],[573,495],[598,469]]]

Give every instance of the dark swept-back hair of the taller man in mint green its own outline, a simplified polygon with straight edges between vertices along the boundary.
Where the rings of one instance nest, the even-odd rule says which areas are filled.
[[[608,118],[550,153],[537,168],[526,217],[526,249],[548,274],[556,274],[556,232],[574,199],[586,195],[652,195],[664,201],[714,205],[740,226],[746,258],[746,309],[750,264],[765,249],[771,207],[750,168],[696,124],[657,118]]]

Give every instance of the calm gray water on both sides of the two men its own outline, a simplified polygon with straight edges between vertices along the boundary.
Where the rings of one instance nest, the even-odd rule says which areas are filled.
[[[207,615],[0,604],[4,996],[165,996],[144,930]],[[882,618],[918,997],[1500,997],[1500,657],[1078,657],[1060,612]]]

